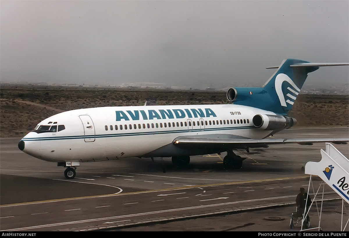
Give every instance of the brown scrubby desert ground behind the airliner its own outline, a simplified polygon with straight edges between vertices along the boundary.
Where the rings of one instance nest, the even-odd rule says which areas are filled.
[[[147,105],[227,104],[226,92],[2,84],[0,137],[21,137],[62,111]],[[296,127],[348,127],[348,95],[302,95],[289,112]]]

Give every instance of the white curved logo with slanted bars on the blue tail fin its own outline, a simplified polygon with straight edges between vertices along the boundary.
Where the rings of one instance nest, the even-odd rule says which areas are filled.
[[[286,95],[284,95],[284,93],[282,92],[282,83],[286,81],[288,82],[292,87],[287,87],[288,89],[288,93]],[[275,78],[275,91],[276,91],[276,94],[277,96],[279,97],[279,100],[280,100],[280,103],[281,103],[281,106],[286,106],[287,107],[287,104],[290,104],[290,105],[293,105],[296,98],[297,98],[297,95],[299,94],[300,92],[300,89],[296,86],[296,84],[290,79],[289,76],[287,76],[286,74],[278,74]],[[287,100],[285,100],[285,96],[288,97]],[[292,101],[293,100],[293,101]]]

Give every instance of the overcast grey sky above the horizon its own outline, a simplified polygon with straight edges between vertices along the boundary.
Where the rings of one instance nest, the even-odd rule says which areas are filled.
[[[1,0],[0,36],[2,82],[263,85],[286,58],[349,62],[349,1]]]

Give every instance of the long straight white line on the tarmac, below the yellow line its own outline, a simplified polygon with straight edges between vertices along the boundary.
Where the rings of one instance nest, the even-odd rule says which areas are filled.
[[[333,193],[335,193],[335,192],[333,192]],[[110,219],[119,219],[119,218],[125,218],[125,217],[144,216],[144,215],[151,215],[151,214],[168,213],[168,212],[173,212],[173,211],[202,209],[202,208],[208,208],[208,207],[227,206],[227,205],[232,205],[232,204],[236,204],[236,203],[265,201],[265,200],[292,198],[292,197],[296,197],[296,195],[280,196],[280,197],[273,197],[273,198],[251,199],[251,200],[242,200],[242,201],[233,201],[233,202],[224,202],[224,203],[207,204],[207,205],[200,205],[200,206],[194,206],[194,207],[175,208],[175,209],[168,209],[168,210],[149,211],[149,212],[146,212],[146,213],[136,213],[136,214],[128,214],[128,215],[120,215],[120,216],[112,216],[112,217],[93,218],[93,219],[80,220],[80,221],[60,222],[60,223],[51,223],[51,224],[45,224],[45,225],[27,226],[27,227],[8,229],[8,230],[2,230],[2,231],[21,231],[21,230],[28,230],[28,229],[39,229],[39,228],[52,227],[52,226],[60,226],[60,225],[68,225],[68,224],[79,224],[79,223],[86,223],[86,222],[96,222],[96,221],[103,221],[103,220],[110,220]],[[295,202],[293,202],[291,204],[295,204]],[[267,207],[267,206],[261,206],[261,207],[258,207],[258,208],[263,208],[263,207]],[[236,210],[250,210],[250,209],[251,208],[248,208],[248,209],[241,209],[240,208],[240,209],[236,209]],[[235,210],[231,210],[231,211],[235,211]],[[224,211],[224,212],[229,212],[229,211]],[[95,230],[97,230],[97,229],[98,228],[95,228]]]

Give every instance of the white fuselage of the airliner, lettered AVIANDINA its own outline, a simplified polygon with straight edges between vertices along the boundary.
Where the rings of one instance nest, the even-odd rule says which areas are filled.
[[[40,122],[38,126],[64,125],[64,129],[28,133],[22,139],[23,151],[45,161],[83,162],[143,156],[178,136],[226,134],[262,139],[271,131],[253,126],[252,118],[259,113],[275,115],[233,104],[72,110]]]

